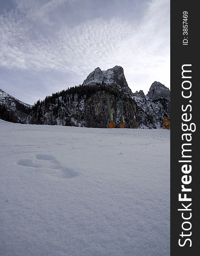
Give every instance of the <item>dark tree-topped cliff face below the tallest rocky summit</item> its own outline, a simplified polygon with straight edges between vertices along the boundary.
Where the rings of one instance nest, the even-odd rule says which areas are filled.
[[[134,128],[135,109],[134,100],[119,90],[101,84],[82,85],[38,101],[31,124],[109,128],[109,122],[114,121],[119,128],[124,118],[126,128]]]

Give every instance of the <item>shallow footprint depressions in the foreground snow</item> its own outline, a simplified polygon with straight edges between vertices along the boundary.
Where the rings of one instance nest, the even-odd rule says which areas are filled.
[[[70,179],[77,177],[78,172],[63,166],[56,157],[48,154],[36,154],[36,160],[33,162],[31,159],[21,159],[17,162],[20,166],[33,167],[33,168],[46,168],[48,174],[58,178]]]

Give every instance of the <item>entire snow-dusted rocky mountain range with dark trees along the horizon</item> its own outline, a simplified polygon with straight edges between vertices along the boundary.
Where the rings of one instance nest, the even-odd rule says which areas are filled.
[[[132,93],[120,66],[106,71],[97,67],[82,85],[47,96],[32,110],[11,96],[4,99],[0,118],[10,121],[15,113],[16,122],[31,124],[108,128],[114,122],[116,128],[123,123],[125,128],[152,129],[162,128],[163,117],[170,116],[169,89],[154,82],[147,96],[142,90]]]

